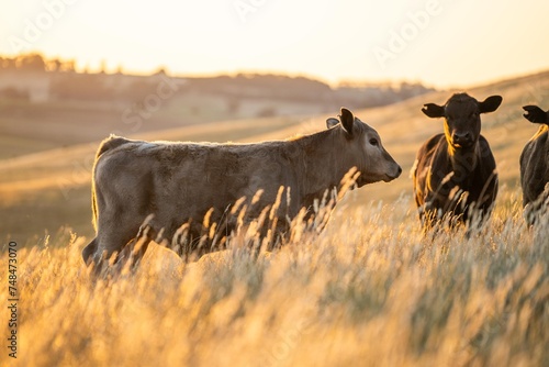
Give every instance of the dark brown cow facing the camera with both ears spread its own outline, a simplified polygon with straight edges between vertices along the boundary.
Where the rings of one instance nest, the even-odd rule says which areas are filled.
[[[495,111],[502,97],[483,102],[467,93],[453,94],[445,105],[425,104],[429,118],[445,118],[444,134],[429,138],[412,168],[415,201],[425,229],[444,218],[467,223],[471,214],[490,214],[497,194],[495,160],[481,135],[481,113]],[[480,223],[480,222],[479,222]]]

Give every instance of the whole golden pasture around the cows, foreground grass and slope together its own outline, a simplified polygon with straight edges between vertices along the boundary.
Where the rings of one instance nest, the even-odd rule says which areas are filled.
[[[419,145],[442,126],[421,107],[450,96],[435,92],[354,111],[378,130],[404,173],[350,191],[321,234],[303,233],[257,260],[242,245],[253,232],[234,238],[232,249],[190,264],[152,246],[136,274],[94,286],[80,252],[92,235],[97,142],[29,143],[29,154],[0,160],[1,269],[8,269],[8,242],[18,243],[18,363],[548,365],[549,223],[526,226],[518,186],[518,157],[537,130],[520,107],[549,108],[547,90],[547,73],[468,90],[479,99],[504,98],[483,118],[501,190],[478,234],[425,236],[413,204],[407,173]],[[324,129],[326,116],[212,122],[132,137],[284,138]],[[20,152],[37,140],[20,136]]]

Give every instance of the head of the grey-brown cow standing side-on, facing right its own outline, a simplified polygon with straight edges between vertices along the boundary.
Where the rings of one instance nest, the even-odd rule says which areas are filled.
[[[341,114],[326,120],[328,129],[340,129],[341,164],[346,167],[357,167],[360,176],[357,185],[363,186],[377,181],[392,181],[397,178],[402,168],[383,148],[376,130],[355,118],[351,111],[341,108]]]

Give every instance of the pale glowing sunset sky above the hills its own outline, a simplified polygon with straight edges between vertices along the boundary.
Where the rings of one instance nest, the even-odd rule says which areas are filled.
[[[0,54],[79,69],[466,87],[549,69],[547,0],[0,0]]]

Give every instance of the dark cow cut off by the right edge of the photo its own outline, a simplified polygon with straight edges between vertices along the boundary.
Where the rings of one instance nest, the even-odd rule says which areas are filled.
[[[528,224],[534,224],[544,216],[540,209],[549,199],[549,111],[545,112],[537,105],[525,105],[523,109],[528,121],[541,124],[520,154],[524,213]]]

